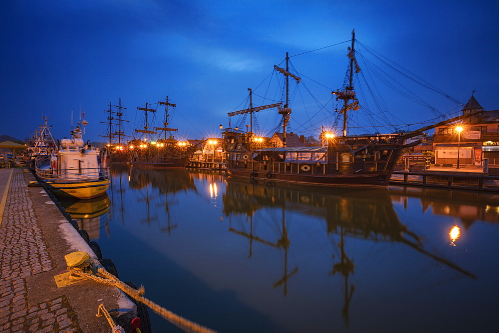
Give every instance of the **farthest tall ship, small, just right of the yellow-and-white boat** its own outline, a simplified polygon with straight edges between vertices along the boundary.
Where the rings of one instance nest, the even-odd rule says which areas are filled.
[[[118,108],[118,111],[113,111],[113,105],[109,103],[109,109],[104,110],[109,115],[107,116],[107,122],[100,122],[102,124],[107,124],[108,129],[105,136],[100,135],[99,137],[107,138],[107,145],[102,148],[101,158],[104,165],[110,164],[126,164],[130,162],[130,151],[128,150],[128,145],[125,138],[129,138],[129,135],[125,135],[123,131],[123,122],[130,122],[123,119],[123,110],[126,108],[121,106],[121,98],[119,99],[118,105],[114,105]]]

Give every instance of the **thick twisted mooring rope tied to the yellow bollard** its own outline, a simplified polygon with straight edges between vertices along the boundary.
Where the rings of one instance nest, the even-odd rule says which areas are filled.
[[[199,333],[212,333],[216,332],[213,330],[210,330],[204,326],[201,326],[199,324],[196,324],[188,319],[185,319],[179,315],[174,314],[173,312],[157,305],[156,303],[148,300],[147,298],[143,297],[145,293],[145,288],[144,286],[141,286],[139,289],[134,289],[127,285],[126,283],[123,283],[120,281],[117,277],[114,275],[110,274],[107,272],[104,268],[102,268],[101,264],[94,258],[90,258],[88,260],[90,262],[90,265],[93,266],[97,271],[104,276],[104,278],[101,278],[99,276],[93,275],[93,274],[88,274],[85,273],[81,270],[75,269],[73,267],[68,266],[68,271],[71,272],[72,274],[81,276],[81,277],[86,277],[89,279],[92,279],[96,282],[106,284],[109,286],[115,286],[118,289],[122,290],[124,293],[130,295],[133,297],[135,300],[144,303],[147,305],[149,308],[151,308],[152,311],[172,323],[173,325],[177,326],[178,328],[184,330],[185,332],[199,332]],[[87,262],[88,262],[87,261]],[[87,263],[86,262],[86,263]]]

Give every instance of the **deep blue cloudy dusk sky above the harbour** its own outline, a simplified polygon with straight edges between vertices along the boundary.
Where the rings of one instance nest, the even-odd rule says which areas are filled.
[[[1,0],[0,134],[28,138],[47,117],[55,139],[69,137],[81,110],[84,140],[106,141],[104,110],[121,98],[124,130],[138,137],[137,107],[157,109],[149,126],[163,127],[168,96],[177,138],[217,137],[221,124],[250,124],[227,115],[249,107],[248,88],[254,106],[282,100],[273,66],[289,52],[302,81],[290,80],[288,132],[317,137],[342,124],[331,91],[344,86],[353,29],[361,109],[349,133],[456,116],[474,90],[496,110],[498,16],[491,0]],[[267,135],[280,120],[276,109],[255,116]]]

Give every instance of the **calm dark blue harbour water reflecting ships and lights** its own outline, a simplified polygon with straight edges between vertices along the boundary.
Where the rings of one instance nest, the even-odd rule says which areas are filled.
[[[112,166],[65,203],[145,297],[219,332],[489,331],[499,195]],[[150,311],[153,332],[177,332]]]

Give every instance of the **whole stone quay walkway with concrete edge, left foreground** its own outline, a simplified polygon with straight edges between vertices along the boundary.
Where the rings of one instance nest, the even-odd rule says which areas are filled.
[[[0,333],[111,332],[95,316],[100,304],[126,328],[136,308],[116,287],[85,280],[57,288],[64,255],[95,254],[43,187],[27,186],[33,180],[27,170],[0,169]]]

